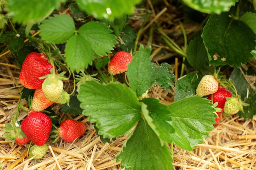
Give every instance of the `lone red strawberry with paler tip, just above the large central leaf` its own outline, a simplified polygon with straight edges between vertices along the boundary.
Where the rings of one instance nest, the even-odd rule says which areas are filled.
[[[111,75],[116,75],[127,71],[127,65],[131,64],[131,54],[125,51],[120,51],[111,59],[108,67],[108,72]]]

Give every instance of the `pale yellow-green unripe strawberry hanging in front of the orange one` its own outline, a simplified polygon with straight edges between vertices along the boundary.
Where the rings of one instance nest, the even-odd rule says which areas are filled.
[[[50,81],[50,83],[48,81]],[[42,85],[42,90],[49,101],[55,102],[61,96],[61,92],[63,91],[63,82],[59,79],[52,80],[50,78],[46,78]]]

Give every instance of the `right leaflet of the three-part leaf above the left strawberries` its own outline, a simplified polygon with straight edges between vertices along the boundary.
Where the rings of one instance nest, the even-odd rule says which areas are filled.
[[[101,23],[86,23],[79,28],[78,32],[84,39],[90,42],[91,48],[99,56],[111,53],[111,50],[113,50],[117,43],[115,36],[110,34],[112,31]]]

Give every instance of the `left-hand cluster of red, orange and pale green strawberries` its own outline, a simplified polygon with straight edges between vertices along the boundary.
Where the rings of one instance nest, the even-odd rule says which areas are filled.
[[[42,111],[54,102],[65,103],[69,100],[69,94],[63,91],[63,75],[57,74],[56,69],[53,73],[52,68],[45,54],[32,52],[27,55],[20,71],[20,83],[26,88],[36,90],[32,99],[32,110],[20,125],[26,137],[16,138],[15,142],[21,145],[32,141],[37,145],[35,150],[45,150],[45,143],[52,129],[51,119]],[[55,130],[58,134],[56,139],[63,138],[66,142],[73,142],[85,130],[83,122],[67,119]]]

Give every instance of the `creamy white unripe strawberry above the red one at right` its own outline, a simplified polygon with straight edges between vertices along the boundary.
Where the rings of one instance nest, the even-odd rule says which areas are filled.
[[[196,89],[196,94],[198,96],[207,96],[209,94],[214,94],[218,91],[218,82],[212,75],[204,76]]]

